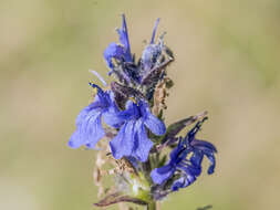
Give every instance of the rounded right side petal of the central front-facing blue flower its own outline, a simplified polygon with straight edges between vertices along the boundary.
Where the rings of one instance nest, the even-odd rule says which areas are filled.
[[[164,135],[166,133],[164,123],[149,112],[149,107],[146,103],[139,102],[139,106],[145,126],[157,136]]]

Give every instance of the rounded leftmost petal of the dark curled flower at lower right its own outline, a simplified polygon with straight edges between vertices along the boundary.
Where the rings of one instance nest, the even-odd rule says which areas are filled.
[[[165,165],[160,168],[155,168],[151,172],[151,177],[155,183],[162,185],[169,179],[175,172],[175,167],[172,165]]]

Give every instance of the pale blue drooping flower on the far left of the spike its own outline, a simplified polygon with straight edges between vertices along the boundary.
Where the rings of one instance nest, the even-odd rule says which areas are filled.
[[[94,102],[83,108],[76,118],[76,130],[69,140],[69,146],[72,148],[79,148],[82,145],[95,148],[96,143],[105,135],[101,123],[102,117],[107,125],[120,126],[118,118],[115,117],[118,108],[114,103],[113,92],[104,92],[92,83],[90,85],[97,88],[97,94]]]

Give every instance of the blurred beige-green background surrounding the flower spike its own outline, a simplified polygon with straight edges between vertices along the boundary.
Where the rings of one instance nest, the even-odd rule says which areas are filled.
[[[95,153],[66,143],[87,70],[108,81],[102,53],[122,12],[137,55],[162,18],[176,56],[167,123],[207,109],[199,137],[219,150],[216,174],[162,209],[279,209],[279,0],[1,0],[0,209],[95,209]]]

